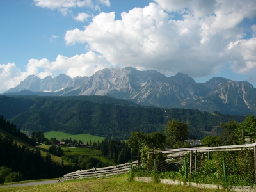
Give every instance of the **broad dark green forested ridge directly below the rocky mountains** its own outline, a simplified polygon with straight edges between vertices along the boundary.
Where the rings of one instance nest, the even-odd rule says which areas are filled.
[[[20,103],[19,110],[24,112],[17,115],[13,113],[15,105],[12,102],[8,104],[8,100]],[[5,104],[4,108],[10,109],[8,114],[13,115],[12,118],[9,116],[10,121],[19,129],[87,133],[116,139],[127,139],[132,131],[163,132],[166,121],[173,118],[189,122],[190,135],[193,138],[202,138],[205,132],[218,133],[216,126],[221,122],[228,122],[230,119],[237,122],[244,120],[244,116],[217,112],[136,106],[125,100],[103,96],[0,97],[1,103]]]

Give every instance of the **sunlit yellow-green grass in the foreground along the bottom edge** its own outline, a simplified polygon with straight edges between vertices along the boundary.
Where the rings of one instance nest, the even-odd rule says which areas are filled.
[[[22,186],[15,188],[0,188],[0,191],[188,191],[188,192],[212,192],[216,190],[198,189],[192,186],[171,186],[159,183],[145,183],[145,182],[129,182],[127,175],[112,177],[108,179],[83,179],[61,182],[58,184],[48,184],[42,186]],[[221,191],[221,190],[220,190]]]

